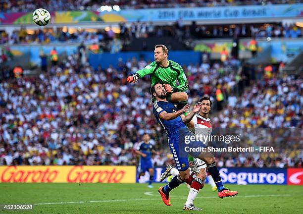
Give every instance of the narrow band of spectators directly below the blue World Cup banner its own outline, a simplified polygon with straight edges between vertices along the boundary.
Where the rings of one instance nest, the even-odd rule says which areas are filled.
[[[116,33],[115,33],[116,32]],[[119,24],[119,31],[113,31],[109,26],[105,29],[76,29],[57,28],[44,30],[31,30],[21,27],[11,35],[0,32],[0,44],[54,44],[54,43],[100,43],[104,47],[112,46],[119,41],[128,43],[136,38],[170,36],[178,39],[201,38],[299,38],[302,37],[302,28],[296,25],[275,24],[242,24],[242,25],[184,25],[178,20],[172,26],[156,26],[152,22],[133,22],[131,25]],[[110,48],[108,48],[110,49]],[[105,49],[107,50],[107,49]]]

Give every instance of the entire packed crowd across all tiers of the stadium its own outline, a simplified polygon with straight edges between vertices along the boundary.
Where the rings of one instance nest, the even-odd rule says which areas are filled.
[[[300,3],[300,0],[115,0],[124,8],[199,7]],[[126,3],[127,2],[127,3]],[[109,0],[0,0],[0,12],[93,10],[111,5]],[[12,58],[10,45],[81,44],[98,46],[94,53],[118,52],[137,38],[169,36],[179,41],[205,38],[299,38],[295,24],[185,25],[182,19],[169,26],[156,23],[119,23],[104,29],[21,27],[8,34],[0,31],[0,62]],[[119,47],[119,48],[116,48]],[[85,48],[84,48],[85,49]],[[81,49],[78,49],[80,51]],[[81,55],[82,54],[82,55]],[[126,77],[150,62],[132,58],[94,69],[84,54],[68,56],[38,77],[0,68],[0,165],[136,165],[134,153],[142,135],[151,135],[156,166],[174,163],[166,135],[152,114],[150,79],[128,84]],[[46,57],[46,56],[41,56]],[[45,65],[46,66],[46,65]],[[303,79],[285,76],[278,67],[246,68],[234,58],[182,65],[189,81],[189,103],[207,94],[213,102],[214,128],[302,129]],[[203,78],[201,78],[201,76]],[[223,94],[218,101],[216,92]],[[264,139],[266,136],[260,135]],[[262,142],[262,141],[260,141]],[[298,141],[297,141],[298,142]],[[300,140],[299,140],[300,142]],[[299,148],[293,142],[294,148]],[[288,149],[288,150],[287,150]],[[219,154],[218,166],[302,167],[303,154],[289,148],[276,154]]]

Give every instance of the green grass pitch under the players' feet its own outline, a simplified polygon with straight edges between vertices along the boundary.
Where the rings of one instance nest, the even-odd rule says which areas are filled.
[[[205,185],[195,201],[203,211],[183,211],[186,185],[171,192],[171,207],[163,204],[157,187],[147,184],[0,183],[1,214],[302,214],[303,186],[226,185],[238,196],[219,199]],[[34,204],[32,211],[8,211],[5,204]]]

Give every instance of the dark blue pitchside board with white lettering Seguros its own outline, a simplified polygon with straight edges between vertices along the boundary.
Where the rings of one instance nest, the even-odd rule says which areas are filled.
[[[299,169],[302,171],[302,169]],[[154,168],[153,182],[159,182],[161,173],[165,168]],[[223,183],[230,184],[280,184],[286,185],[287,182],[287,169],[286,168],[220,168],[221,179]],[[150,178],[148,172],[141,176],[137,182],[144,183]],[[302,179],[303,180],[303,179]],[[206,181],[207,183],[207,181]]]

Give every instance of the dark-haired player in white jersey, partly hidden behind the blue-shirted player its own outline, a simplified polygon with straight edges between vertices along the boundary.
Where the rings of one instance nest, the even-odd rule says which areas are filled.
[[[209,136],[211,134],[211,120],[208,118],[208,113],[211,107],[211,101],[208,96],[204,96],[200,102],[202,103],[202,108],[193,117],[192,121],[188,125],[189,128],[195,128],[195,134],[202,136]],[[208,139],[208,138],[204,138]],[[207,145],[208,141],[203,142]],[[190,178],[186,181],[190,185],[190,191],[187,201],[183,207],[183,210],[202,210],[194,206],[194,200],[197,197],[199,190],[203,188],[204,181],[206,179],[206,163],[203,160],[195,159],[195,163],[200,169],[200,173],[195,173],[190,170]],[[191,167],[191,165],[190,165]],[[168,165],[166,171],[162,173],[160,180],[163,181],[166,177],[170,175],[177,175],[179,171],[172,165]],[[208,176],[208,181],[212,186],[212,190],[216,190],[216,185],[212,177]]]

